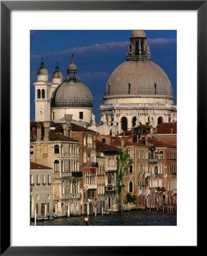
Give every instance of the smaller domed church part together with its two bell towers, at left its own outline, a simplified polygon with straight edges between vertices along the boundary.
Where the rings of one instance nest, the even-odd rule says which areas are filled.
[[[37,72],[35,85],[35,121],[65,121],[65,114],[73,115],[73,122],[88,127],[93,120],[93,96],[87,86],[80,82],[73,61],[68,65],[67,76],[56,66],[52,82],[48,80],[48,71],[44,62]]]

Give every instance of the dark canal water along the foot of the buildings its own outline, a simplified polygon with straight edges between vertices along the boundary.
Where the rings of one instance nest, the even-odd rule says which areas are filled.
[[[78,217],[61,217],[51,221],[38,221],[37,226],[85,226],[84,215]],[[89,215],[93,226],[176,226],[176,212],[149,210],[130,210],[113,214]],[[31,222],[31,226],[34,226]]]

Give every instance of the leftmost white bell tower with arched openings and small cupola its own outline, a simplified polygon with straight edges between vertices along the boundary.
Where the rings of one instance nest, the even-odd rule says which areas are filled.
[[[37,72],[35,86],[35,121],[51,121],[51,82],[44,67],[43,57]]]

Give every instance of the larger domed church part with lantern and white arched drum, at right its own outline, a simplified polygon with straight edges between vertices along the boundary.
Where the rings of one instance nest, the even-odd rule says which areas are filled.
[[[151,61],[144,31],[131,33],[126,61],[115,69],[105,87],[100,133],[117,135],[138,125],[156,127],[176,122],[172,85],[163,69]]]

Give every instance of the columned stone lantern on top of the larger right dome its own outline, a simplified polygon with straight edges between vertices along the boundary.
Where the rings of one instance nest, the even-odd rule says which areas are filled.
[[[133,30],[130,45],[126,53],[126,60],[151,60],[150,46],[143,30]]]

